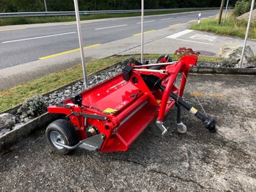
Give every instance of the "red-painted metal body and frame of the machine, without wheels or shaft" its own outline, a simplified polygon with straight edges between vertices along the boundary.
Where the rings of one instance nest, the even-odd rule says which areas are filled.
[[[175,104],[175,100],[169,97],[170,92],[182,97],[188,70],[196,61],[196,56],[184,56],[173,65],[163,66],[166,70],[164,74],[132,70],[128,82],[119,74],[81,92],[83,106],[73,104],[70,98],[62,102],[63,106],[49,106],[48,111],[69,115],[70,121],[77,129],[79,140],[88,138],[86,128],[89,125],[97,127],[99,133],[106,136],[100,152],[127,150],[154,118],[157,117],[159,122],[163,122],[164,115]],[[179,73],[182,73],[182,78],[178,88],[175,81]],[[164,92],[158,89],[150,90],[141,74],[154,74],[161,78],[162,85],[166,87]],[[95,117],[84,118],[83,114]],[[99,119],[97,116],[104,116],[106,119]]]

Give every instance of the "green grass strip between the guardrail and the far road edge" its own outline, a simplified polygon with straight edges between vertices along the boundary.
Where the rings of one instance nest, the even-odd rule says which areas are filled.
[[[170,13],[182,13],[182,12],[195,12],[199,10],[177,10],[170,12],[145,12],[145,15],[159,15],[159,14],[170,14]],[[116,18],[116,17],[136,17],[140,16],[141,13],[115,13],[115,14],[99,14],[99,15],[81,15],[81,20],[92,20],[92,19],[105,19],[105,18]],[[68,22],[76,21],[75,16],[51,16],[51,17],[10,17],[0,19],[0,26],[18,25],[18,24],[36,24],[45,22]]]

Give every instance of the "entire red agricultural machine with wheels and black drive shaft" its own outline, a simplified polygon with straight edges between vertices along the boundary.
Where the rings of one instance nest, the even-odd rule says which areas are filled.
[[[164,115],[173,106],[177,106],[179,132],[186,132],[186,125],[180,121],[180,106],[202,120],[210,132],[216,132],[214,118],[182,99],[188,70],[196,61],[196,56],[184,56],[172,62],[166,55],[155,64],[130,63],[122,74],[49,106],[49,113],[65,114],[69,120],[52,122],[46,130],[47,141],[61,154],[69,154],[77,147],[100,152],[125,151],[154,119],[165,134]],[[179,73],[182,77],[177,83]]]

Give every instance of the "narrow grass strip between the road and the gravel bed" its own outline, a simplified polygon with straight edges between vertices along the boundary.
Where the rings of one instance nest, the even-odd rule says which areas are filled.
[[[161,54],[146,54],[144,56],[147,59],[157,59]],[[173,60],[179,60],[179,58],[173,54],[170,54]],[[134,58],[140,58],[140,55],[135,55]],[[86,64],[87,74],[93,74],[102,70],[104,68],[110,67],[115,63],[124,61],[127,56],[113,56],[106,58],[104,60],[94,60]],[[199,61],[220,61],[220,58],[199,56]],[[2,90],[0,92],[0,111],[4,111],[9,108],[13,108],[18,104],[24,102],[28,97],[33,97],[36,93],[42,95],[44,93],[50,92],[61,86],[72,83],[83,78],[83,68],[82,65],[76,65],[72,68],[67,68],[61,70],[60,72],[55,72],[48,76],[40,77],[33,81],[26,83],[21,83],[12,88]]]

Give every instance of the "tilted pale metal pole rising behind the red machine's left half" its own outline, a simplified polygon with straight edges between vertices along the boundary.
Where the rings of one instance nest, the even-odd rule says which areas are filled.
[[[87,76],[86,76],[86,65],[85,65],[85,61],[84,61],[83,38],[82,38],[81,23],[80,23],[77,0],[74,0],[74,4],[75,4],[75,10],[76,10],[76,24],[77,24],[77,32],[78,32],[78,38],[79,38],[81,59],[82,59],[82,64],[83,64],[84,87],[88,88]]]

